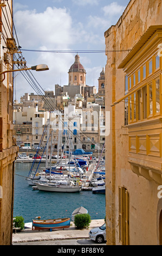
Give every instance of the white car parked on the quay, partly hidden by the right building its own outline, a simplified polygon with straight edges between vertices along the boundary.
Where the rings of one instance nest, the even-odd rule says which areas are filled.
[[[89,238],[96,241],[97,243],[102,243],[106,241],[106,223],[101,225],[99,228],[93,228],[89,231]]]

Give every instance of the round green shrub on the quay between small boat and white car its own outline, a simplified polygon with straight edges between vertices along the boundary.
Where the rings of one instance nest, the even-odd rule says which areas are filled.
[[[91,220],[89,214],[77,214],[74,217],[74,224],[77,229],[88,228],[90,222]]]

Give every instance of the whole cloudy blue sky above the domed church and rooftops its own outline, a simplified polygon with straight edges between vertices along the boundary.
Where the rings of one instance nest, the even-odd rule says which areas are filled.
[[[32,71],[43,90],[55,90],[55,84],[68,85],[68,71],[77,51],[105,50],[104,33],[118,22],[128,3],[129,0],[13,0],[16,35],[27,66],[49,67],[48,71]],[[86,84],[98,89],[98,78],[106,65],[105,53],[78,54],[87,73]],[[14,99],[20,102],[25,93],[36,94],[21,72],[14,76]]]

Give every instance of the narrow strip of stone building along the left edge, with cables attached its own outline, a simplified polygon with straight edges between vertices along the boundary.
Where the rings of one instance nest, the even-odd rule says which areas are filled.
[[[0,72],[12,70],[13,54],[18,51],[12,34],[11,15],[12,1],[0,1]],[[11,245],[14,169],[18,150],[13,138],[12,72],[6,73],[5,77],[0,75],[0,80],[0,245]]]

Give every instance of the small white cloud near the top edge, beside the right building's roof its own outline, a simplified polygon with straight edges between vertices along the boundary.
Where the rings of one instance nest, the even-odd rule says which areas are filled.
[[[125,6],[119,5],[117,2],[113,2],[103,7],[102,10],[105,15],[114,16],[122,14],[122,12],[125,10]]]

